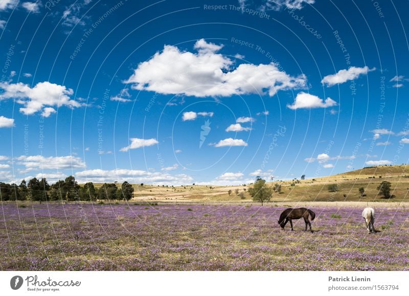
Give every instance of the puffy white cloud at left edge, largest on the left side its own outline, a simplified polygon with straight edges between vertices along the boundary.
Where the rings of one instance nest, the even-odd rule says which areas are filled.
[[[24,105],[19,110],[25,115],[31,115],[38,111],[43,111],[44,115],[50,115],[52,112],[44,112],[44,108],[52,106],[69,106],[71,108],[81,106],[80,103],[71,100],[70,95],[74,93],[71,88],[67,89],[63,85],[48,81],[39,82],[34,87],[21,82],[3,82],[0,83],[0,88],[4,90],[3,94],[0,95],[0,100],[15,98],[16,103]]]

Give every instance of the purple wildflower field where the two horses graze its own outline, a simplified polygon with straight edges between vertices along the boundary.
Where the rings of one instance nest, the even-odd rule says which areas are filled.
[[[1,206],[2,270],[409,270],[409,210],[311,207],[314,233],[284,207],[16,204]]]

